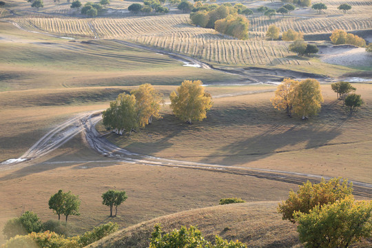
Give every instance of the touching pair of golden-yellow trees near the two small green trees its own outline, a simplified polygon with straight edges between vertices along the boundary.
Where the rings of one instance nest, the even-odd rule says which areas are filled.
[[[270,101],[276,109],[286,110],[288,116],[294,112],[304,120],[320,111],[323,96],[316,79],[284,79]]]

